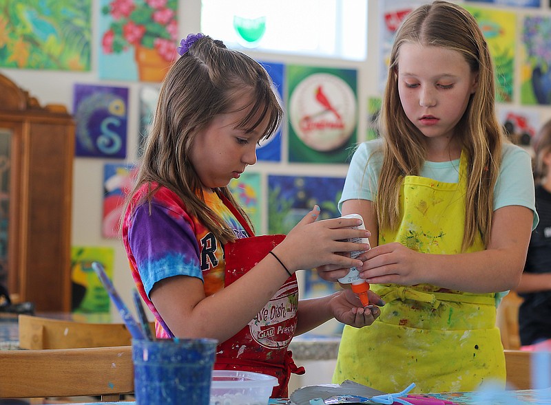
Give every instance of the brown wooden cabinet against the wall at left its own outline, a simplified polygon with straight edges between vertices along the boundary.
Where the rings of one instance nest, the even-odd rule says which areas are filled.
[[[0,74],[0,281],[37,311],[71,309],[73,159],[67,109]]]

